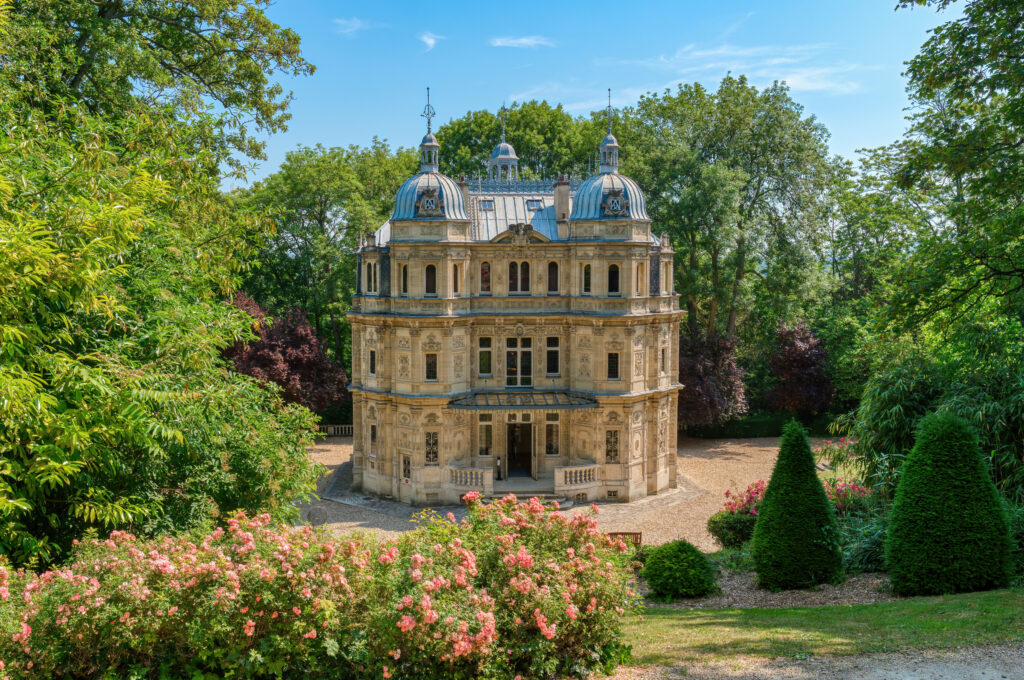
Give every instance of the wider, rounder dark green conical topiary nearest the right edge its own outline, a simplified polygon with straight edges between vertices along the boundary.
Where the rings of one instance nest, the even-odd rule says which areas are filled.
[[[896,486],[887,568],[900,595],[1001,588],[1012,546],[1006,510],[967,421],[926,416]]]

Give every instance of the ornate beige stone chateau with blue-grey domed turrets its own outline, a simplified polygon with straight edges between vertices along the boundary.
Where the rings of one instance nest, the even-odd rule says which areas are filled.
[[[354,486],[415,505],[675,487],[673,250],[610,123],[582,183],[520,178],[504,131],[486,179],[456,181],[424,116],[420,173],[358,250]]]

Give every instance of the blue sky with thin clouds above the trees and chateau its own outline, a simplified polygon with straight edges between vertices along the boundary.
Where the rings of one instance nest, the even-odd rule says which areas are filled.
[[[786,81],[831,132],[831,151],[897,139],[904,62],[953,12],[854,2],[342,2],[279,0],[270,17],[298,32],[316,66],[289,79],[293,118],[268,141],[254,178],[301,144],[413,146],[424,90],[438,123],[503,101],[546,99],[573,115],[731,72],[759,86]],[[628,139],[620,140],[624,145]],[[443,153],[443,150],[441,150]]]

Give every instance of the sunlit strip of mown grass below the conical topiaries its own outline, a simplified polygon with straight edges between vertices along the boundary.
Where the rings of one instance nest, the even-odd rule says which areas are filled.
[[[626,625],[636,663],[845,655],[1024,641],[1024,589],[786,609],[648,608]]]

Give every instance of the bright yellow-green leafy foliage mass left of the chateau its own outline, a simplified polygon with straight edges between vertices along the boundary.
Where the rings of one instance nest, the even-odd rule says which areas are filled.
[[[7,77],[24,66],[0,79],[0,554],[43,565],[90,528],[294,516],[312,417],[220,359],[249,334],[224,297],[265,225],[219,193],[209,121],[38,102]]]

